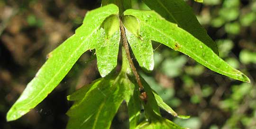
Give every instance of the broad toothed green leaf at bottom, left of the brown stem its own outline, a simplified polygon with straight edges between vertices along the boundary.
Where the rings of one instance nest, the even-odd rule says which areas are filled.
[[[124,87],[104,79],[95,89],[75,102],[67,112],[67,129],[109,129],[111,121],[123,101]],[[111,106],[110,106],[111,105]]]

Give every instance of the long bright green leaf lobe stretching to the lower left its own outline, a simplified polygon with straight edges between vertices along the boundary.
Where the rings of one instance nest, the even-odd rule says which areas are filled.
[[[101,35],[99,28],[106,17],[118,14],[118,7],[108,5],[88,12],[73,36],[48,54],[48,60],[39,69],[27,88],[7,113],[13,121],[38,105],[64,78],[78,58],[88,49],[95,48]]]

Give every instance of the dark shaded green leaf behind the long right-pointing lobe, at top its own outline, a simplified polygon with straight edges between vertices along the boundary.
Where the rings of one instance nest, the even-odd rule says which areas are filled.
[[[216,43],[198,22],[192,8],[184,0],[143,0],[146,5],[159,13],[166,20],[177,24],[183,30],[191,33],[219,55]],[[198,0],[202,1],[202,0]]]

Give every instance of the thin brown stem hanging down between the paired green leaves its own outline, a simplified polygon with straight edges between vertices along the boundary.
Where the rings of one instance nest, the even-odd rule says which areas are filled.
[[[123,47],[125,48],[125,52],[126,52],[126,55],[127,55],[127,59],[129,61],[129,65],[132,69],[132,72],[135,76],[135,79],[138,83],[138,86],[139,86],[139,91],[140,91],[140,98],[146,103],[147,102],[147,95],[146,95],[146,92],[144,91],[144,87],[140,81],[140,78],[139,78],[139,75],[137,73],[137,70],[133,64],[133,61],[131,59],[131,56],[130,56],[130,51],[129,51],[129,47],[128,47],[128,40],[126,38],[126,34],[125,34],[125,29],[124,29],[124,25],[122,23],[122,21],[120,20],[120,31],[121,31],[121,37],[122,37],[122,42],[123,42]]]

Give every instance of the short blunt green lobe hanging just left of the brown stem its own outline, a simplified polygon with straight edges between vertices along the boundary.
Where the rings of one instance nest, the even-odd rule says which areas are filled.
[[[103,22],[103,28],[99,31],[105,36],[99,35],[99,42],[96,46],[97,64],[101,77],[108,75],[117,65],[120,41],[118,16],[109,16]]]

